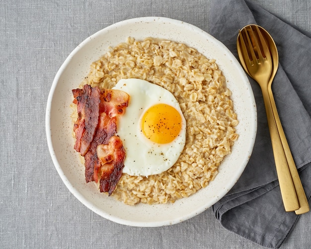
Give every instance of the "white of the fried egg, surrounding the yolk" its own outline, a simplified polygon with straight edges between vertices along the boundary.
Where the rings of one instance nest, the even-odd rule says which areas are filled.
[[[174,95],[159,85],[140,79],[122,79],[113,89],[130,95],[129,105],[117,124],[117,135],[126,151],[123,172],[149,176],[169,169],[178,160],[186,143],[186,120]],[[154,143],[141,131],[142,116],[158,103],[173,106],[182,118],[179,135],[167,144]]]

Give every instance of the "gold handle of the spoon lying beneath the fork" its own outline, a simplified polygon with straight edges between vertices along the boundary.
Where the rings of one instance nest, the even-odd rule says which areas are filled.
[[[286,160],[292,175],[292,179],[293,179],[293,183],[295,186],[295,190],[296,190],[296,194],[297,194],[297,198],[298,198],[298,202],[299,202],[299,206],[300,208],[295,210],[296,214],[304,214],[309,212],[310,208],[309,208],[309,203],[306,197],[306,193],[304,191],[304,187],[301,183],[298,171],[297,171],[297,167],[295,165],[294,159],[293,159],[293,155],[291,153],[290,147],[288,145],[281,121],[280,121],[280,117],[278,114],[278,110],[276,108],[276,104],[274,101],[274,97],[273,97],[273,93],[272,93],[272,89],[271,89],[271,84],[269,84],[268,87],[268,92],[269,92],[269,98],[270,98],[270,103],[271,103],[271,107],[272,107],[272,112],[274,115],[274,119],[276,122],[276,126],[279,132],[279,136],[283,145],[283,149],[284,149],[284,153],[286,156]]]

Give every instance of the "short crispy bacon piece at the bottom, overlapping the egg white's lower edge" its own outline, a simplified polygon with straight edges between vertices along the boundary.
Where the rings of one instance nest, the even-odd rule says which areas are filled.
[[[100,161],[100,192],[109,195],[115,189],[124,167],[125,150],[118,136],[112,136],[105,145],[97,146],[97,157]]]

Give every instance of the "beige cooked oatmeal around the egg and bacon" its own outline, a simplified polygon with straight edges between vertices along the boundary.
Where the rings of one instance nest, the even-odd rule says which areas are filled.
[[[231,91],[215,60],[185,44],[130,37],[92,63],[80,86],[112,88],[128,78],[173,93],[186,119],[186,144],[167,171],[149,177],[123,173],[112,196],[130,205],[167,203],[206,187],[238,137]]]

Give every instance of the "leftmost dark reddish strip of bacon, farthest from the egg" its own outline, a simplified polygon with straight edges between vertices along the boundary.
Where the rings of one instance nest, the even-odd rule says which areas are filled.
[[[98,124],[100,90],[84,85],[83,89],[72,90],[77,104],[78,119],[74,125],[76,135],[75,150],[82,156],[88,151]]]

